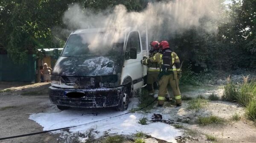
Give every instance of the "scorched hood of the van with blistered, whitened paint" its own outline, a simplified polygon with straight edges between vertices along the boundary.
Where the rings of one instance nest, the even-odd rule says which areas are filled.
[[[122,61],[120,59],[116,56],[60,57],[54,66],[52,75],[106,76],[117,74],[121,64],[117,61]]]

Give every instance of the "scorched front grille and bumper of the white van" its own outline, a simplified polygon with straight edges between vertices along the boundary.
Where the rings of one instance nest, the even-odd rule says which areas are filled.
[[[112,76],[60,76],[61,85],[64,85],[64,87],[57,87],[53,84],[49,89],[50,100],[52,103],[64,107],[116,107],[121,100],[122,87],[116,86],[116,83],[111,85],[113,87],[100,86],[101,79],[117,79],[117,75]]]

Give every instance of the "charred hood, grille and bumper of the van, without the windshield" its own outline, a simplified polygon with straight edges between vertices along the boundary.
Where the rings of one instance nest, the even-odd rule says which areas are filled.
[[[60,76],[61,84],[73,88],[50,87],[50,101],[69,107],[118,106],[123,63],[123,56],[60,57],[52,75]]]

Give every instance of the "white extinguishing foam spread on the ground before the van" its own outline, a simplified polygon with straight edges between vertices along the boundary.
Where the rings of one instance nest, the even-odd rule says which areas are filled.
[[[134,100],[134,99],[133,99]],[[136,103],[136,102],[133,102]],[[135,107],[136,105],[129,105],[129,109]],[[128,109],[128,110],[129,110]],[[84,123],[89,123],[92,121],[99,121],[116,115],[120,115],[124,112],[111,111],[109,109],[99,109],[93,110],[93,113],[90,113],[90,110],[65,110],[61,112],[45,112],[38,113],[29,116],[29,119],[36,121],[41,126],[44,127],[44,130],[63,128],[67,126],[76,126]],[[128,112],[128,111],[125,111]],[[138,119],[142,117],[151,118],[151,115],[144,115],[140,113],[131,113],[127,115],[122,115],[116,118],[107,119],[104,121],[99,121],[96,123],[91,123],[87,125],[82,125],[78,127],[71,128],[70,132],[88,132],[89,129],[95,129],[99,133],[96,137],[100,137],[104,134],[105,131],[109,134],[119,134],[119,135],[130,135],[136,133],[136,131],[142,131],[151,135],[152,137],[166,140],[167,142],[175,143],[175,137],[180,136],[181,133],[179,130],[175,129],[173,126],[165,123],[151,123],[148,122],[148,125],[141,125],[138,123]],[[61,131],[56,131],[53,133],[59,133]]]

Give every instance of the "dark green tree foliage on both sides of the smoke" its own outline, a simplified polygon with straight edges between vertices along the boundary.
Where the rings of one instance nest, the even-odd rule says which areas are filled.
[[[1,0],[0,45],[16,62],[26,62],[26,55],[38,48],[63,46],[67,35],[55,33],[65,28],[62,16],[74,3],[97,13],[118,4],[141,11],[148,0]],[[232,0],[222,6],[219,14],[228,21],[219,23],[217,34],[193,27],[168,39],[189,70],[256,68],[256,0]]]

